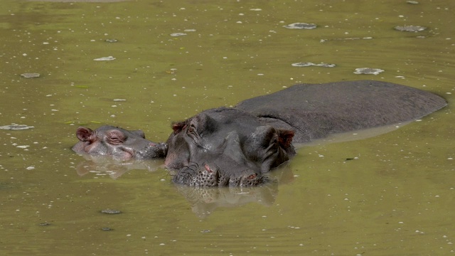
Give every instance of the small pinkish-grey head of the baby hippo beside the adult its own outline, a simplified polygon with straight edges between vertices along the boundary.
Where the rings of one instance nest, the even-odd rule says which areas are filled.
[[[109,155],[117,159],[154,159],[166,156],[167,145],[145,139],[141,130],[128,131],[119,127],[102,126],[92,130],[79,127],[73,151],[78,154]]]

